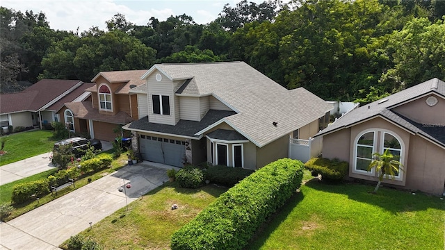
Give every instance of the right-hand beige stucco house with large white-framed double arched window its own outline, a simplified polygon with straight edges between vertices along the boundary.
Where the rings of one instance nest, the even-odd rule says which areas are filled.
[[[348,161],[350,177],[378,181],[367,171],[372,154],[389,149],[405,171],[385,183],[444,193],[445,83],[437,78],[352,110],[321,136],[323,157]]]

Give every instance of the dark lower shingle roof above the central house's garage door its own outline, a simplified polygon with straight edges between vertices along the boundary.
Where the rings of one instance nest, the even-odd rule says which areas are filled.
[[[125,127],[131,128],[131,130],[135,131],[151,131],[159,134],[170,134],[170,135],[179,135],[185,138],[200,138],[200,135],[196,135],[196,133],[215,122],[220,121],[224,117],[234,115],[234,111],[226,111],[226,110],[209,110],[206,115],[201,119],[200,122],[197,121],[188,121],[188,120],[179,120],[176,125],[167,125],[167,124],[156,124],[152,122],[148,122],[148,117],[143,117],[138,119],[136,122],[131,122]]]

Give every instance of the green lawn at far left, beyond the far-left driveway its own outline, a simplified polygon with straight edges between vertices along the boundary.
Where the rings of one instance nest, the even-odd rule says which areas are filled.
[[[8,153],[0,156],[0,166],[53,150],[56,141],[50,139],[52,135],[51,131],[42,130],[6,135],[8,141],[3,150]]]

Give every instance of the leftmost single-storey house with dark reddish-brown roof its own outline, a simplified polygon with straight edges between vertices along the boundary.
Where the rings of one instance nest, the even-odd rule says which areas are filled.
[[[59,122],[58,111],[65,101],[73,101],[90,88],[79,80],[43,79],[22,92],[0,95],[0,126],[38,126]]]

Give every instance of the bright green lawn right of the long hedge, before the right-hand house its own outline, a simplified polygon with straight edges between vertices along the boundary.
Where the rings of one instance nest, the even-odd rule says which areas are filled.
[[[444,200],[372,190],[309,181],[248,249],[443,249]]]

